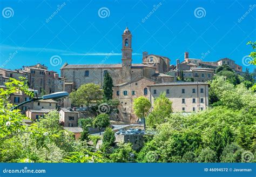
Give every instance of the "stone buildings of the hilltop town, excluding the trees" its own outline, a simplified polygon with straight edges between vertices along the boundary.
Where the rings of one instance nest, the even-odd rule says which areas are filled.
[[[184,59],[176,60],[176,65],[170,65],[171,59],[143,52],[141,64],[132,63],[132,33],[126,27],[122,34],[122,64],[68,64],[65,63],[58,71],[50,71],[44,64],[23,66],[23,69],[8,70],[0,68],[0,85],[10,78],[24,77],[28,81],[31,91],[38,95],[51,94],[65,91],[71,93],[81,85],[94,83],[103,87],[106,73],[113,80],[113,99],[117,99],[118,113],[110,114],[110,119],[122,124],[138,124],[141,122],[133,110],[134,99],[145,97],[153,105],[154,100],[165,93],[172,101],[173,112],[199,112],[206,110],[209,105],[208,80],[212,80],[215,70],[219,66],[228,65],[235,73],[242,76],[242,66],[235,64],[229,58],[222,58],[214,62],[205,62],[202,59],[190,58],[189,53],[184,53]],[[111,98],[111,99],[112,99]],[[18,105],[30,99],[23,92],[11,95],[10,103]],[[82,132],[78,126],[78,119],[83,117],[85,105],[75,107],[71,99],[38,100],[25,104],[19,109],[33,121],[44,117],[51,110],[58,110],[60,124]],[[107,106],[109,108],[109,106]],[[153,108],[153,107],[152,107]],[[28,123],[28,122],[27,122]],[[73,131],[74,132],[74,131]],[[79,135],[78,135],[79,137]]]

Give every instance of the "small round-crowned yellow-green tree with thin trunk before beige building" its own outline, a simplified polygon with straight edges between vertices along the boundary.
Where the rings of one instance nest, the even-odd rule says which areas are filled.
[[[149,113],[151,103],[145,97],[138,97],[133,101],[133,110],[138,118],[145,118]]]

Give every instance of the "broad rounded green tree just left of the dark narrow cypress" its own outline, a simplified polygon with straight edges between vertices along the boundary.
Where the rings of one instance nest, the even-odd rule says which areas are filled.
[[[102,99],[103,92],[97,84],[89,83],[81,85],[77,91],[70,93],[72,104],[80,106],[85,104],[87,108],[93,101]]]

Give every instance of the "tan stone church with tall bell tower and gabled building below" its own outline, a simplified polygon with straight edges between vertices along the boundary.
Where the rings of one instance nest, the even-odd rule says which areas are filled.
[[[147,52],[143,52],[142,64],[133,64],[132,34],[126,27],[122,35],[122,64],[69,65],[65,63],[60,72],[66,79],[65,90],[69,92],[87,83],[102,86],[104,74],[108,72],[114,84],[113,98],[120,101],[118,121],[136,122],[138,118],[133,114],[133,99],[144,96],[152,100],[150,86],[172,83],[174,77],[165,74],[169,71],[169,67],[169,58],[149,55]],[[197,84],[200,85],[200,83]],[[172,95],[172,97],[176,96]],[[178,98],[181,99],[181,96]]]

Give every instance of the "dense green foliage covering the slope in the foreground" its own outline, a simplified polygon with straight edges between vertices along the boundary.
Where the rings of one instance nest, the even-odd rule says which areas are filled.
[[[59,125],[57,111],[31,126],[23,125],[26,117],[19,110],[9,111],[14,105],[8,98],[18,91],[31,97],[33,93],[24,81],[11,79],[5,90],[0,88],[0,161],[255,162],[256,93],[244,81],[234,84],[225,76],[216,76],[209,84],[211,107],[198,113],[172,113],[172,103],[165,94],[155,99],[151,112],[149,100],[135,99],[135,113],[145,117],[147,126],[156,132],[148,135],[142,149],[135,152],[131,144],[114,142],[108,114],[80,119],[84,131],[79,140]],[[89,135],[89,126],[100,132],[107,128],[100,137]],[[100,139],[103,144],[97,149]]]

